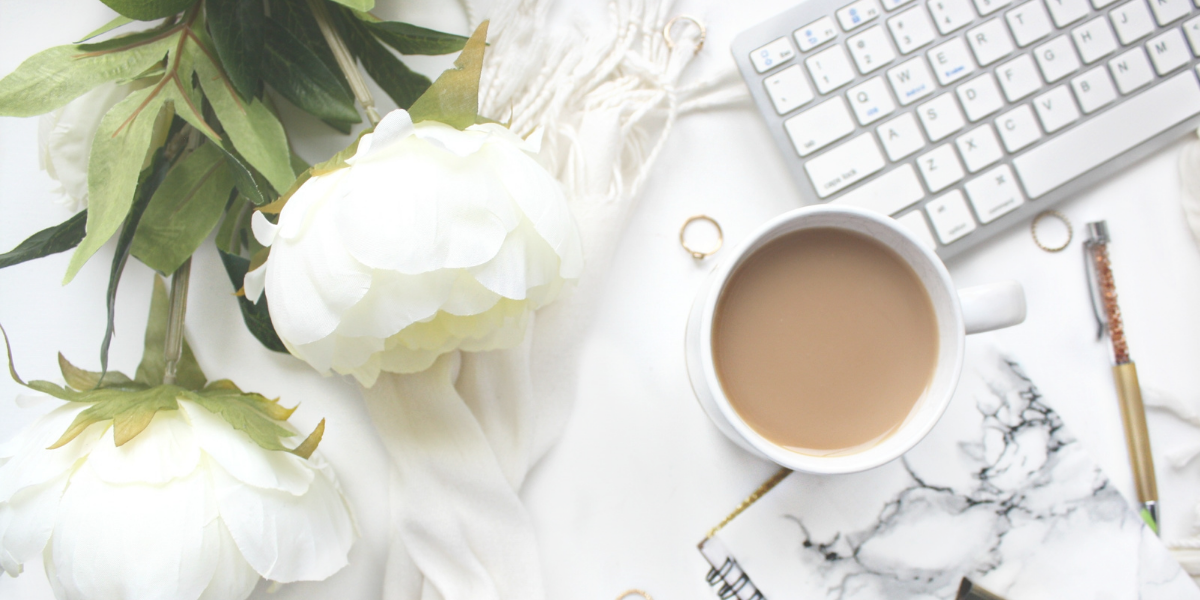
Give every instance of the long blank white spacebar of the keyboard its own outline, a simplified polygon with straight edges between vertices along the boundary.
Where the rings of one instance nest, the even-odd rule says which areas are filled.
[[[1013,160],[1030,198],[1099,167],[1200,113],[1200,83],[1187,70]]]

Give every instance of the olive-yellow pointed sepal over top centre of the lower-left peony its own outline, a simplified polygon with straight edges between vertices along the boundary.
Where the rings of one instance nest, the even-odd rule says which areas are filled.
[[[175,385],[160,385],[139,391],[98,390],[94,394],[100,392],[109,394],[103,401],[96,401],[94,406],[76,415],[62,437],[47,450],[62,448],[88,427],[109,420],[113,421],[113,440],[118,446],[124,445],[142,433],[160,410],[178,410],[176,398],[187,394]]]

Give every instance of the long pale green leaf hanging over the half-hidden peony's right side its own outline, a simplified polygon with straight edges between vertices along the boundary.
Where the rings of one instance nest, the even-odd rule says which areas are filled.
[[[88,233],[71,257],[70,283],[125,221],[166,98],[155,88],[130,94],[100,121],[88,162]]]

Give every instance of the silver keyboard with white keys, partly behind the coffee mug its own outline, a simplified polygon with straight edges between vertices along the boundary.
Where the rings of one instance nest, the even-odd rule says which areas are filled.
[[[1192,1],[808,0],[733,56],[806,202],[949,258],[1200,124]]]

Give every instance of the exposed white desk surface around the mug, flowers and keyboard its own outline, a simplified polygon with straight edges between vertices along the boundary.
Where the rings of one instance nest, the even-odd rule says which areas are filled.
[[[380,0],[383,14],[466,29],[461,16],[445,12],[456,10],[446,6],[451,2],[421,0],[402,10],[390,4]],[[596,17],[590,26],[605,23],[604,2],[590,4],[586,10]],[[691,74],[732,68],[733,35],[790,4],[677,2],[671,14],[692,14],[708,25],[708,42]],[[584,10],[569,6],[559,7],[560,17]],[[0,0],[0,73],[50,44],[77,38],[110,14],[95,0]],[[53,29],[47,25],[52,22]],[[432,73],[448,62],[412,61]],[[294,109],[284,116],[301,136],[313,138],[300,148],[308,160],[322,160],[344,144]],[[1147,394],[1160,390],[1200,406],[1200,251],[1180,209],[1178,156],[1184,143],[1060,204],[1076,229],[1067,251],[1038,250],[1022,224],[950,264],[960,286],[1003,278],[1025,286],[1025,324],[971,343],[998,344],[1020,360],[1127,498],[1133,498],[1133,481],[1109,349],[1094,340],[1079,232],[1088,221],[1109,222],[1129,347]],[[36,148],[37,119],[0,119],[5,251],[70,216],[53,202]],[[691,396],[682,352],[684,322],[702,277],[722,256],[697,264],[679,248],[677,234],[688,216],[703,212],[720,221],[726,244],[736,244],[758,223],[799,206],[798,193],[749,102],[680,120],[654,169],[620,242],[595,328],[581,341],[588,366],[572,419],[523,491],[539,528],[550,598],[607,600],[634,587],[658,600],[713,598],[696,542],[775,470],[721,437]],[[23,377],[56,378],[60,350],[76,364],[96,367],[112,252],[112,245],[102,250],[67,287],[60,282],[70,253],[0,270],[0,323],[12,338]],[[113,368],[132,372],[137,366],[150,284],[150,270],[131,260],[118,296]],[[386,466],[356,386],[322,378],[295,359],[263,349],[242,326],[229,292],[209,242],[194,263],[187,325],[200,365],[210,377],[232,378],[244,388],[282,396],[286,403],[300,402],[293,420],[301,430],[328,419],[322,450],[337,469],[362,530],[350,566],[324,583],[286,586],[270,598],[324,598],[334,590],[346,599],[378,598]],[[0,378],[0,440],[50,404],[17,408],[13,398],[22,391]],[[1176,469],[1166,455],[1195,440],[1198,432],[1165,413],[1151,412],[1148,419],[1165,538],[1188,536],[1192,509],[1200,499],[1200,464]],[[260,587],[254,598],[268,598],[264,594]],[[37,564],[26,564],[26,575],[17,580],[0,575],[0,596],[53,598]]]

